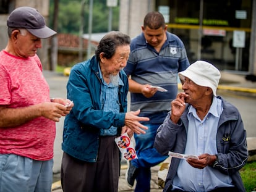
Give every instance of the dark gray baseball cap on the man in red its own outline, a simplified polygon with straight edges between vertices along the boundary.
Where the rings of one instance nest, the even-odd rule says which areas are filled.
[[[7,19],[7,26],[12,28],[25,28],[32,35],[45,39],[56,34],[45,25],[45,19],[32,7],[18,7],[14,9]]]

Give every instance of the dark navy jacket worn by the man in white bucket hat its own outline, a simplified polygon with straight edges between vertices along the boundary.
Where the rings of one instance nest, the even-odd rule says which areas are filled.
[[[218,98],[222,99],[220,96]],[[248,158],[246,131],[244,130],[241,115],[236,107],[224,99],[222,99],[222,102],[223,112],[218,122],[216,135],[218,164],[214,168],[230,175],[233,185],[239,191],[245,192],[239,169],[245,165]],[[181,121],[177,124],[171,122],[169,112],[164,123],[158,128],[154,147],[160,154],[166,155],[169,151],[184,153],[189,123],[187,112],[188,106],[181,116]],[[177,158],[172,159],[163,191],[171,191],[173,178],[177,173],[180,160]]]

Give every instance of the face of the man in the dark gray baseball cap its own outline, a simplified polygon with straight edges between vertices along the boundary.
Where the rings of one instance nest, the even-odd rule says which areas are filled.
[[[19,30],[17,30],[19,31]],[[19,57],[32,57],[35,56],[38,48],[41,48],[41,39],[32,35],[27,31],[22,35],[19,31],[15,39],[15,54]]]

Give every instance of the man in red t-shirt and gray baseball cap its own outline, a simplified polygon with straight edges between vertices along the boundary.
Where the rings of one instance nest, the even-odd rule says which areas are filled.
[[[0,191],[51,191],[55,123],[74,105],[49,98],[36,55],[41,38],[56,32],[32,7],[11,12],[7,27],[0,52]]]

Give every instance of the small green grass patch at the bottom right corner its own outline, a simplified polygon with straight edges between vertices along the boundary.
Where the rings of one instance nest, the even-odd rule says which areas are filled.
[[[247,192],[256,191],[256,161],[247,162],[240,170],[242,182]]]

